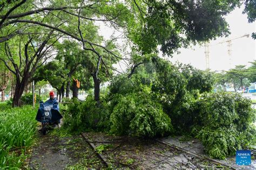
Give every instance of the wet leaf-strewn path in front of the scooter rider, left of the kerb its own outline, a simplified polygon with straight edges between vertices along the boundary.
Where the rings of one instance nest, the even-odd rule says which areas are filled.
[[[58,137],[39,135],[38,145],[33,147],[29,160],[30,169],[80,169],[100,168],[104,164],[80,135]],[[97,162],[97,164],[94,164]],[[93,164],[90,164],[93,163]]]

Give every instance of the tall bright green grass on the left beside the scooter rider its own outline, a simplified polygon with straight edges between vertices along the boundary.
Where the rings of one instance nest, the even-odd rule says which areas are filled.
[[[35,142],[36,110],[0,103],[0,169],[20,168]]]

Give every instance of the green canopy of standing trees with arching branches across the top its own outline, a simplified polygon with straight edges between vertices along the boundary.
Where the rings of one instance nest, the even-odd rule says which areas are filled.
[[[16,76],[14,106],[19,105],[24,87],[35,70],[56,55],[65,65],[63,69],[70,71],[65,73],[69,77],[65,81],[66,90],[70,86],[71,68],[85,67],[87,71],[82,73],[92,76],[95,100],[99,102],[100,84],[109,80],[116,70],[113,63],[128,61],[131,77],[159,49],[164,55],[172,56],[180,47],[227,36],[230,32],[224,17],[241,3],[239,0],[4,0],[0,3],[0,45],[5,54],[0,60]],[[253,1],[246,1],[245,5],[252,22]],[[97,23],[122,32],[123,46],[131,48],[130,56],[122,56],[118,37],[113,35],[106,40],[100,36]],[[79,55],[74,58],[76,51]],[[11,67],[8,62],[12,63]]]

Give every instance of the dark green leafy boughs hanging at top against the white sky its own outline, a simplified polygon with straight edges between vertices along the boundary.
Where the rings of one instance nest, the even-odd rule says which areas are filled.
[[[129,5],[135,6],[131,9],[139,16],[128,27],[138,51],[152,53],[160,45],[164,54],[172,55],[191,42],[227,36],[230,32],[224,16],[240,2],[154,0]]]

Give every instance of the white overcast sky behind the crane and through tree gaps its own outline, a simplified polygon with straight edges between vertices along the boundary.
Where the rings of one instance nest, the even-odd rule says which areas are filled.
[[[226,20],[230,25],[230,36],[227,38],[217,38],[216,40],[210,41],[210,62],[209,66],[211,70],[228,70],[234,68],[235,65],[247,65],[250,66],[250,61],[256,59],[255,40],[252,39],[252,32],[256,32],[256,25],[254,23],[248,23],[247,15],[242,14],[242,8],[237,8],[230,15],[226,16]],[[113,33],[109,27],[103,24],[97,24],[100,26],[100,34],[104,38],[109,39]],[[115,36],[120,33],[116,32]],[[227,42],[223,44],[218,44],[226,40],[244,36],[245,34],[250,34],[250,37],[243,37],[239,39],[232,40],[232,52],[231,52],[231,62],[227,53]],[[216,45],[218,44],[218,45]],[[190,49],[181,48],[179,54],[174,54],[173,58],[168,58],[172,62],[182,62],[190,63],[192,66],[199,69],[206,69],[206,59],[205,59],[205,47],[204,46],[193,46]],[[231,65],[230,65],[231,63]],[[119,71],[122,72],[119,65],[114,65]],[[122,65],[124,68],[124,65]],[[124,68],[125,69],[125,68]],[[123,69],[123,70],[124,70]]]

